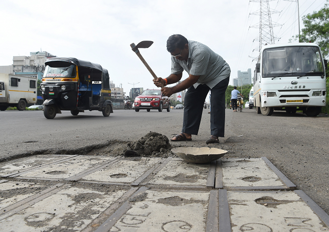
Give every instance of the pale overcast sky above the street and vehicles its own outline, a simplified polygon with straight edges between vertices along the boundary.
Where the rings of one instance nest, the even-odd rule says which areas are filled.
[[[252,0],[255,1],[255,0]],[[291,2],[295,1],[295,2]],[[300,19],[320,10],[325,0],[300,0]],[[131,43],[151,40],[140,49],[158,77],[171,72],[166,41],[182,34],[210,47],[231,67],[230,84],[237,70],[252,72],[257,57],[258,15],[249,15],[260,3],[248,0],[107,0],[35,1],[0,0],[0,65],[11,65],[13,56],[29,56],[30,51],[48,51],[58,57],[75,57],[108,69],[116,86],[129,95],[133,87],[154,88],[153,77],[131,50]],[[276,0],[270,8],[276,44],[287,43],[298,34],[296,0]],[[302,20],[301,22],[301,28]],[[253,52],[252,52],[253,51]],[[184,72],[182,80],[188,77]]]

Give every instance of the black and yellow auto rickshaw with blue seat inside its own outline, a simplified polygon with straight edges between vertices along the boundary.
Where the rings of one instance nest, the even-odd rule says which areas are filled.
[[[98,110],[113,113],[109,75],[99,64],[76,58],[50,58],[40,84],[44,115],[52,119],[62,110],[78,115]]]

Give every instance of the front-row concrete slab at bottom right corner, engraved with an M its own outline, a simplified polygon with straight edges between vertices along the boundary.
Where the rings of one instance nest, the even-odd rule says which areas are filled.
[[[329,231],[294,191],[227,191],[227,200],[232,232]]]

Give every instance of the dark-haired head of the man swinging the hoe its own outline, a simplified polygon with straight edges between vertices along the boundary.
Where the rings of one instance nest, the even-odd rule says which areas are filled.
[[[181,34],[173,34],[168,38],[167,50],[177,60],[187,60],[189,58],[189,43]]]

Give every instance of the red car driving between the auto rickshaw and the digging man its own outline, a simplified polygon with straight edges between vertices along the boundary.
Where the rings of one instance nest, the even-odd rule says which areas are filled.
[[[138,97],[135,98],[135,111],[147,110],[158,110],[167,109],[170,111],[170,98],[163,96],[160,90],[144,90]]]

